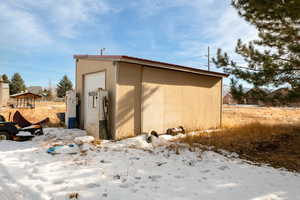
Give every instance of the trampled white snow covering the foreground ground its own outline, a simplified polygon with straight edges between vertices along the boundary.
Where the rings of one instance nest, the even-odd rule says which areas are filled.
[[[46,153],[84,131],[45,129],[28,142],[0,141],[1,200],[300,199],[300,176],[214,152],[153,148],[143,136],[106,141],[87,155]],[[145,149],[145,150],[143,150]]]

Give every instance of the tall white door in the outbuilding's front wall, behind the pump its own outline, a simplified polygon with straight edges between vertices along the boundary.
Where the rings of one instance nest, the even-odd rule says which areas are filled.
[[[84,128],[96,138],[99,138],[99,105],[98,96],[93,93],[99,88],[105,89],[105,72],[84,76]]]

